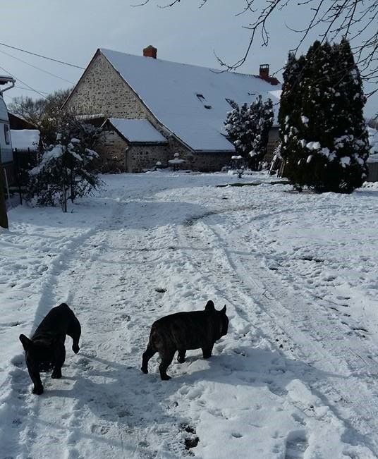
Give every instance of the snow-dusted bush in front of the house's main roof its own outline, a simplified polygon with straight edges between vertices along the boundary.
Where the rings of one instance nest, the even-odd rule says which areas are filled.
[[[259,96],[249,107],[243,104],[239,108],[236,102],[232,104],[234,108],[224,123],[227,136],[250,169],[256,171],[267,154],[269,130],[274,120],[272,100],[263,101]]]

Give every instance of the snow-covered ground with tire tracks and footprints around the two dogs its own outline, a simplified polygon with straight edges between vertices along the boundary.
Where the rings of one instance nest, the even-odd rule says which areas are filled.
[[[1,459],[378,457],[378,189],[216,186],[262,179],[104,176],[68,214],[9,212]],[[152,322],[209,299],[230,319],[213,357],[142,374]],[[34,396],[18,335],[60,302],[80,353],[67,338],[63,378]]]

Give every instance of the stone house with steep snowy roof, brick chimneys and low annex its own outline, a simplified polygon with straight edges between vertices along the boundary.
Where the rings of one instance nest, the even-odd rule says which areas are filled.
[[[185,169],[217,171],[235,154],[224,132],[230,102],[261,94],[278,112],[280,89],[267,65],[245,75],[163,61],[152,46],[143,56],[97,49],[63,108],[104,128],[104,171],[139,172],[175,156]],[[276,139],[275,125],[270,150]]]

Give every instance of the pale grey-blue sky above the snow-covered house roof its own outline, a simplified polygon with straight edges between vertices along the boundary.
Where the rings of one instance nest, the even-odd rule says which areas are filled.
[[[81,67],[87,66],[99,47],[141,55],[142,49],[152,44],[158,49],[159,59],[212,68],[219,68],[217,56],[233,64],[244,54],[250,31],[243,26],[250,23],[251,13],[238,13],[245,0],[208,0],[202,8],[200,0],[183,0],[171,8],[158,7],[166,4],[164,0],[133,6],[137,3],[138,0],[108,0],[106,4],[94,0],[15,0],[1,6],[0,42]],[[269,63],[271,73],[277,72],[281,80],[280,69],[288,50],[298,41],[298,34],[286,25],[298,28],[307,19],[305,8],[277,14],[270,23],[269,46],[262,47],[257,40],[238,71],[257,74],[260,63]],[[305,42],[303,51],[315,38]],[[9,104],[12,97],[22,94],[40,97],[72,87],[83,70],[0,45],[0,73],[12,74],[17,80],[16,87],[4,94]],[[367,102],[365,116],[369,118],[377,112],[378,94]]]

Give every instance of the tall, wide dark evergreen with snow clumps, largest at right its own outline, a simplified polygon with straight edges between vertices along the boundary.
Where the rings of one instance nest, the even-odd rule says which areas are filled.
[[[284,176],[295,188],[352,192],[367,176],[360,72],[346,39],[289,56],[279,114]]]

